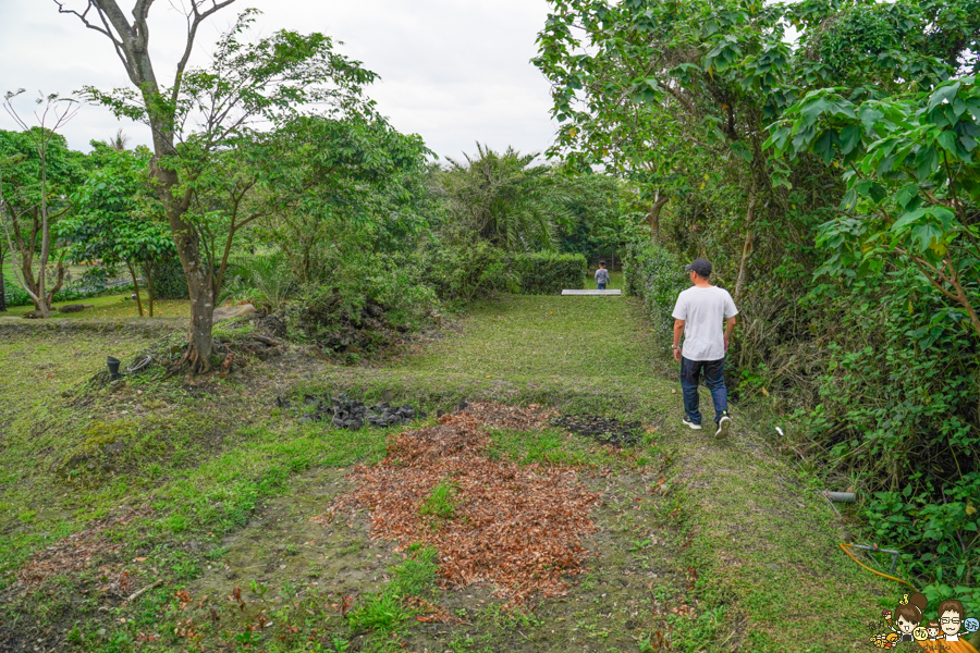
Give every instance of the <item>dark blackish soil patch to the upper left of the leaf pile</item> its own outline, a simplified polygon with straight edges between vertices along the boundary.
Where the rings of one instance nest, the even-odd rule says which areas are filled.
[[[412,405],[391,406],[379,403],[367,406],[363,402],[352,399],[345,394],[331,396],[303,395],[299,399],[283,399],[277,397],[275,405],[280,408],[293,408],[299,415],[302,422],[328,422],[338,429],[357,430],[365,423],[378,428],[397,427],[411,423],[413,419],[425,419],[426,414],[416,410]]]

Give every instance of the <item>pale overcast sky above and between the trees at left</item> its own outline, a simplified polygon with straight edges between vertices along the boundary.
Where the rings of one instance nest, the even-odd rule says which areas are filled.
[[[133,0],[119,0],[127,15]],[[84,0],[65,4],[84,9]],[[179,5],[179,0],[173,0]],[[256,33],[321,32],[344,41],[340,51],[360,60],[381,81],[368,95],[401,132],[420,134],[440,157],[513,145],[542,151],[552,139],[548,83],[528,60],[548,13],[544,0],[238,0],[198,33],[194,62],[207,63],[217,36],[238,11],[264,12]],[[158,79],[172,79],[183,46],[180,14],[167,0],[150,12],[150,51]],[[53,0],[0,0],[0,93],[26,88],[26,98],[70,95],[83,85],[128,85],[108,38],[58,13]],[[62,130],[69,145],[87,151],[122,126],[132,143],[149,144],[149,128],[120,123],[106,109],[82,107]],[[0,112],[0,128],[14,128]]]

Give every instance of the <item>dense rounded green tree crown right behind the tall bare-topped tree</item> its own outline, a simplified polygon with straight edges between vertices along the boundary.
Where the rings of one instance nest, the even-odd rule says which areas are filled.
[[[422,181],[431,152],[421,137],[385,121],[301,118],[248,150],[269,214],[295,278],[330,279],[358,251],[413,249],[427,226]]]

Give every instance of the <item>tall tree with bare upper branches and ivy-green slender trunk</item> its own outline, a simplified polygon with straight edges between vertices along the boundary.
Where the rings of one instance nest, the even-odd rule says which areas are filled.
[[[322,34],[281,30],[255,44],[243,33],[255,11],[244,12],[219,41],[208,70],[188,69],[200,25],[234,0],[189,0],[184,4],[186,32],[173,79],[157,76],[150,57],[149,14],[154,0],[135,0],[128,17],[115,0],[88,0],[84,10],[54,0],[59,11],[75,15],[112,44],[134,89],[103,93],[86,87],[85,96],[118,115],[146,123],[154,141],[152,175],[163,204],[191,295],[191,332],[184,360],[191,371],[209,368],[211,325],[218,270],[194,224],[196,182],[212,157],[235,147],[260,123],[275,123],[304,107],[334,112],[368,110],[362,86],[375,79],[358,62],[338,54]]]

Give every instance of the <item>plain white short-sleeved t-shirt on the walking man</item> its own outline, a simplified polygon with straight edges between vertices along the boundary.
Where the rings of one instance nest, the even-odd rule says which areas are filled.
[[[691,286],[677,296],[675,320],[684,320],[684,348],[688,360],[720,360],[725,357],[725,320],[738,315],[728,291],[718,286]]]

